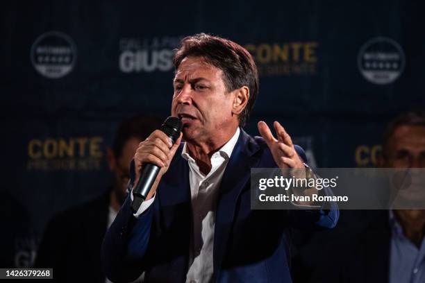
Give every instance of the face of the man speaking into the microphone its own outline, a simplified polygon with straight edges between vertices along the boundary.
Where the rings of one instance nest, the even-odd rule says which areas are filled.
[[[235,130],[233,95],[224,85],[223,71],[201,57],[183,59],[174,77],[172,116],[181,117],[186,141],[208,141]]]

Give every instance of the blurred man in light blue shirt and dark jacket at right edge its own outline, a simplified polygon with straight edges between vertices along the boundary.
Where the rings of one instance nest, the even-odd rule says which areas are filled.
[[[389,212],[375,212],[374,220],[359,234],[350,264],[341,269],[342,279],[425,282],[425,210],[418,209],[425,207],[425,184],[423,171],[417,171],[425,168],[424,112],[403,113],[387,126],[380,163],[386,168],[413,169],[412,182],[408,189],[399,191]],[[422,176],[415,176],[415,172]],[[398,200],[403,200],[403,208],[412,208],[397,209]],[[420,207],[418,201],[422,202]]]

